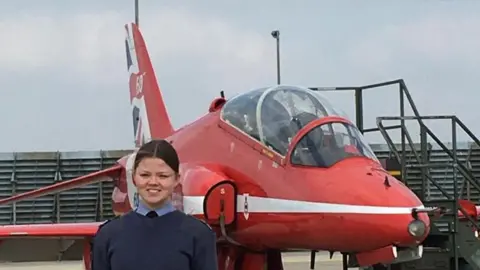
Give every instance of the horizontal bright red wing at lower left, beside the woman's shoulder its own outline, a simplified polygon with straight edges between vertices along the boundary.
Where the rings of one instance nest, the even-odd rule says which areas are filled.
[[[93,236],[101,222],[0,226],[0,238]]]

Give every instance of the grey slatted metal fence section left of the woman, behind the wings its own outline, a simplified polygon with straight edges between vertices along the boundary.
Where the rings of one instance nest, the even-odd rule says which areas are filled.
[[[112,166],[131,150],[0,153],[0,197]],[[111,217],[111,183],[99,183],[0,207],[0,224],[87,222]]]

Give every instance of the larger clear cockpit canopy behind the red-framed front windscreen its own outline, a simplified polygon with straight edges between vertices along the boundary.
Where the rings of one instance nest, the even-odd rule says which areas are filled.
[[[342,116],[320,94],[296,86],[261,88],[238,95],[224,105],[222,118],[285,156],[297,132],[311,121]]]

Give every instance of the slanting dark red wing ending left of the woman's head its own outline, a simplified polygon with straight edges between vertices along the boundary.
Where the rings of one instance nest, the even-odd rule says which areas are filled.
[[[58,184],[20,193],[8,198],[0,199],[0,205],[9,204],[25,199],[34,199],[52,193],[59,193],[65,190],[74,189],[98,182],[112,181],[120,175],[123,167],[120,164],[114,165],[108,169],[80,176],[71,180],[63,181]]]

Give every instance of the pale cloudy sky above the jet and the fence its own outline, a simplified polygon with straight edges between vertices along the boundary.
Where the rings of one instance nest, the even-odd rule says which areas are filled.
[[[270,33],[278,29],[283,84],[404,79],[421,114],[455,114],[480,136],[480,1],[281,2],[140,0],[140,28],[176,128],[205,114],[221,90],[229,97],[275,85]],[[133,148],[124,47],[133,7],[133,0],[2,5],[0,152]],[[355,119],[353,93],[325,95]],[[364,98],[366,128],[399,113],[395,89]],[[427,124],[451,141],[449,122]]]

